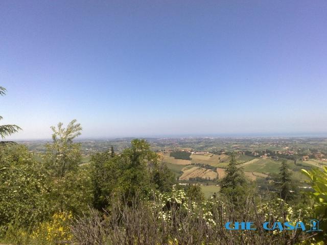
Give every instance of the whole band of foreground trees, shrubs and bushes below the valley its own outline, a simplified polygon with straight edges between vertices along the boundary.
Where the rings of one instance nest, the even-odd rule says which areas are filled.
[[[26,146],[0,145],[0,239],[10,244],[323,244],[327,168],[303,170],[314,192],[292,187],[287,163],[260,191],[230,155],[221,190],[205,199],[199,185],[176,185],[175,175],[145,140],[82,164],[81,125],[52,127],[53,141],[36,160]],[[303,198],[306,197],[306,198]],[[323,232],[263,222],[321,221]],[[226,222],[253,222],[255,231],[226,230]]]

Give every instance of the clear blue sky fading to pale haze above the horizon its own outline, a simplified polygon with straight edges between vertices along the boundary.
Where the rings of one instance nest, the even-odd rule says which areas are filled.
[[[1,124],[327,132],[327,1],[1,1]]]

